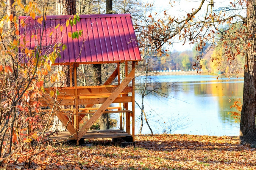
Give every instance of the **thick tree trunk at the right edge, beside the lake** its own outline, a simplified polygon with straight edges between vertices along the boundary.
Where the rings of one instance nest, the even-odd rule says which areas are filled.
[[[240,123],[240,144],[256,145],[256,13],[255,0],[247,1],[248,49],[245,56],[243,107]],[[251,46],[249,46],[249,43]]]

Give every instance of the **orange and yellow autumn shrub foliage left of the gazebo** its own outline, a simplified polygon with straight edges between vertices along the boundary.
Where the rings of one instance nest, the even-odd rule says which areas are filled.
[[[2,7],[7,7],[4,3]],[[12,7],[21,8],[24,15],[30,16],[42,25],[45,20],[37,4],[30,1],[24,6],[21,1],[15,1]],[[36,15],[39,17],[36,18]],[[4,23],[10,23],[7,27]],[[73,15],[66,25],[79,22],[79,16]],[[15,12],[3,14],[0,19],[0,165],[6,159],[15,157],[19,152],[31,144],[44,144],[48,137],[55,133],[50,131],[52,116],[55,112],[42,112],[39,97],[54,100],[57,92],[45,94],[44,88],[61,79],[64,72],[52,72],[51,65],[59,56],[65,45],[52,44],[51,50],[42,45],[42,39],[36,34],[30,37],[37,44],[34,48],[26,46],[26,39],[19,32],[19,27],[26,26],[26,19],[18,22]],[[59,25],[58,25],[59,26]],[[61,27],[61,26],[60,26]],[[55,28],[56,29],[56,28]],[[82,32],[74,31],[70,38],[78,38]],[[51,72],[51,74],[50,74]],[[30,158],[27,158],[29,163]]]

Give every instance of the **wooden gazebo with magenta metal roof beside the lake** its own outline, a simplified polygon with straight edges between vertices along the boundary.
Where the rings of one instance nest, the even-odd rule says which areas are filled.
[[[44,107],[56,112],[55,115],[68,130],[59,132],[54,138],[75,139],[78,143],[82,138],[132,136],[134,142],[135,64],[141,60],[141,55],[131,15],[80,15],[80,22],[73,26],[66,26],[70,17],[67,15],[46,16],[45,22],[38,21],[40,17],[35,19],[28,16],[19,17],[21,43],[24,42],[24,39],[26,40],[24,46],[33,50],[40,45],[44,47],[43,50],[51,50],[53,45],[63,44],[66,49],[60,52],[61,58],[57,58],[54,65],[68,64],[70,68],[74,67],[74,86],[72,86],[70,69],[70,87],[45,88],[46,93],[50,93],[50,91],[56,93],[58,90],[58,104],[47,97],[49,95],[39,99]],[[83,33],[79,38],[71,39],[68,36],[69,33],[79,30],[82,30]],[[96,63],[116,63],[116,69],[103,85],[77,86],[77,66]],[[125,78],[122,82],[120,80],[121,63],[125,65]],[[116,77],[118,85],[111,85]],[[132,103],[132,108],[128,108],[129,102]],[[110,107],[112,103],[123,103],[124,107]],[[102,105],[97,108],[93,107],[94,104]],[[85,105],[85,108],[81,108],[79,105]],[[89,128],[103,113],[120,113],[120,129],[89,131]],[[125,113],[125,129],[122,129],[121,113]],[[71,118],[68,117],[70,114]],[[92,114],[92,117],[82,124],[81,120],[87,114]]]

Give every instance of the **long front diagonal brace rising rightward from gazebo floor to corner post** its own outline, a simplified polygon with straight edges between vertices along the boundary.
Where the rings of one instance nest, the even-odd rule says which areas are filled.
[[[78,134],[77,141],[79,141],[84,134],[88,131],[88,129],[96,122],[96,120],[103,114],[103,112],[110,106],[110,104],[117,98],[117,96],[127,87],[129,82],[134,78],[135,69],[127,75],[123,82],[117,87],[117,90],[113,92],[107,100],[102,104],[101,107],[93,114],[93,116],[88,120],[88,122],[80,129]]]

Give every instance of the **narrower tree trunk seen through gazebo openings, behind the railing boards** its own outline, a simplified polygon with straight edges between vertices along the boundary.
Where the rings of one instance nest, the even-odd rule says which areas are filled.
[[[101,64],[93,64],[93,82],[94,85],[102,85]],[[99,106],[97,106],[99,107]],[[108,113],[102,114],[99,118],[101,130],[109,129]]]

